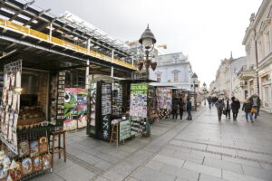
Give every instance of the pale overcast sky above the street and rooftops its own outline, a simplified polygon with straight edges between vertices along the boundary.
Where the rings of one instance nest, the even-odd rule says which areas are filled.
[[[215,79],[220,60],[245,56],[242,40],[262,0],[36,0],[55,15],[65,10],[122,41],[150,24],[163,52],[183,52],[201,82]]]

